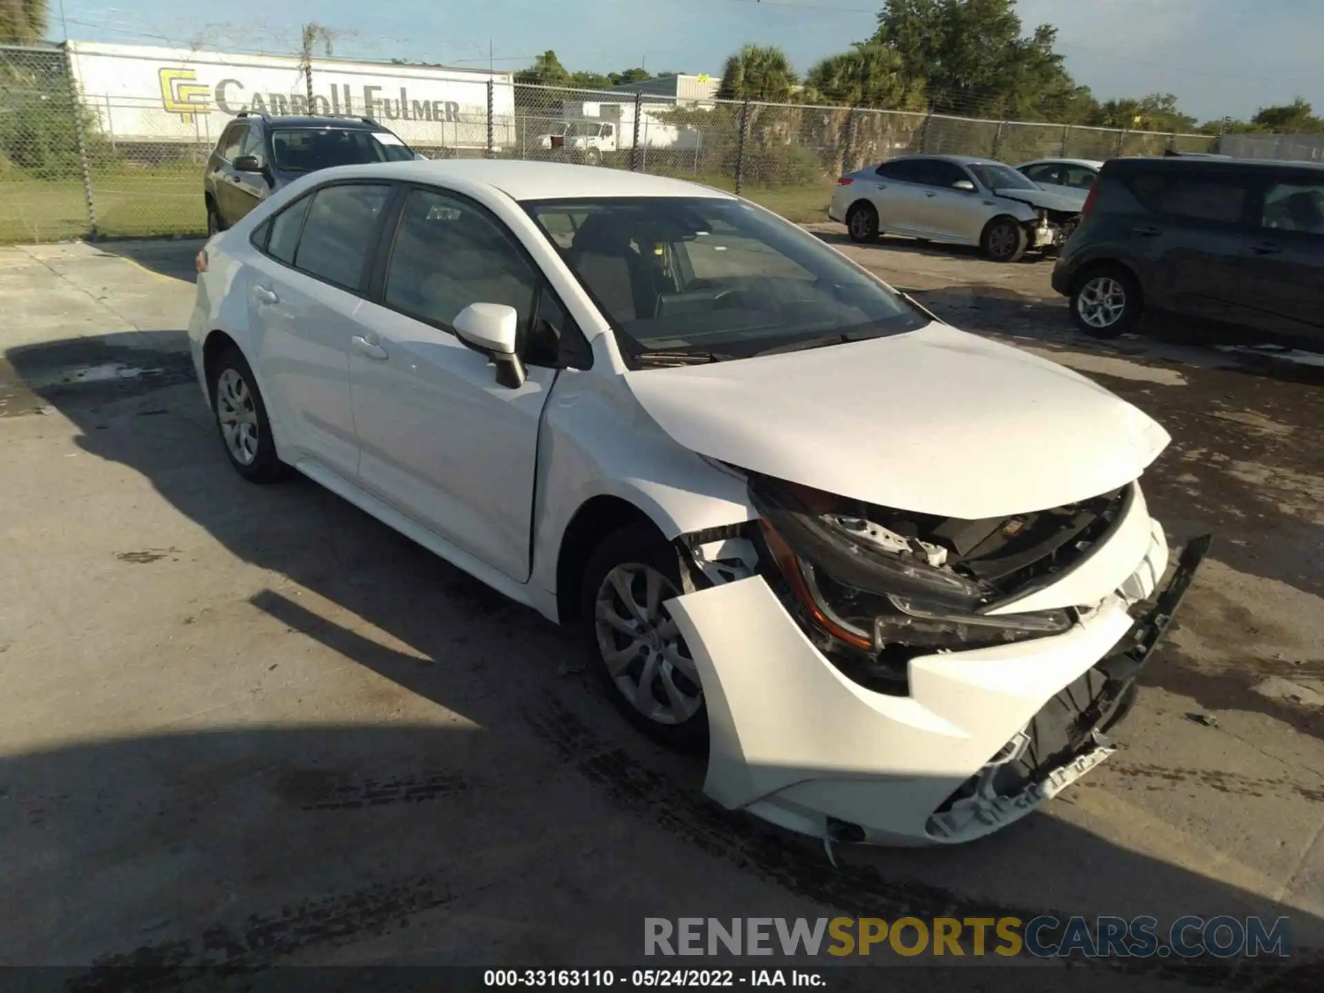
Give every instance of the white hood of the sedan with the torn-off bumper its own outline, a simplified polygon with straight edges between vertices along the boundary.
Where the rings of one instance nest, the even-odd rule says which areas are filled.
[[[940,516],[1009,516],[1131,482],[1170,437],[1057,363],[932,323],[869,342],[626,373],[679,444]]]

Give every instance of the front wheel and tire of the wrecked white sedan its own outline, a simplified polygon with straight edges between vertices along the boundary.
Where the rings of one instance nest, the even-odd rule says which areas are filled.
[[[683,751],[708,741],[699,670],[663,602],[681,592],[675,549],[632,524],[598,544],[581,591],[592,663],[616,707],[650,737]]]

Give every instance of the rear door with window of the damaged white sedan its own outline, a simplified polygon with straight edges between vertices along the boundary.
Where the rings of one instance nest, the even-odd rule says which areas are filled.
[[[354,479],[359,441],[350,350],[360,334],[372,248],[392,185],[319,187],[281,211],[249,281],[262,392],[289,462],[312,459]]]

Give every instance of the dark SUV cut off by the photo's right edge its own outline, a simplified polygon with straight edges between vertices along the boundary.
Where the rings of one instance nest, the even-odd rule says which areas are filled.
[[[1152,310],[1324,342],[1324,166],[1107,162],[1053,289],[1096,338],[1116,338]]]

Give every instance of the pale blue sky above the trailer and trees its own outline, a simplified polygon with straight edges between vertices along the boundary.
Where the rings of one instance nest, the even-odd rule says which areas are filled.
[[[336,54],[518,69],[555,49],[569,69],[722,70],[747,41],[780,45],[801,70],[874,29],[876,0],[312,0],[274,13],[270,0],[111,5],[64,0],[69,37],[289,52],[299,24],[344,32]],[[1324,3],[1319,0],[1021,0],[1026,29],[1058,26],[1059,50],[1100,98],[1170,91],[1201,119],[1249,117],[1300,94],[1324,113]],[[61,36],[60,0],[52,37]]]

